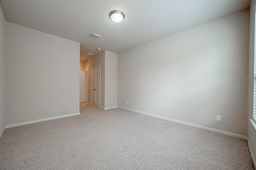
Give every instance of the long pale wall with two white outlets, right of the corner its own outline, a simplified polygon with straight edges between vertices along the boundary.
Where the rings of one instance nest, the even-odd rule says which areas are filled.
[[[247,136],[248,26],[244,10],[118,54],[118,106]]]

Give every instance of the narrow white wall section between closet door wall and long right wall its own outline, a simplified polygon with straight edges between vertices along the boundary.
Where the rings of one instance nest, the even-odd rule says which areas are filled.
[[[118,54],[105,51],[105,109],[117,107]]]

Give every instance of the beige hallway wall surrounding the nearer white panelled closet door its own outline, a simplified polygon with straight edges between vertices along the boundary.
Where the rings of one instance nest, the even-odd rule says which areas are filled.
[[[91,102],[91,68],[101,66],[100,70],[100,107],[105,103],[105,51],[88,58],[88,103]]]

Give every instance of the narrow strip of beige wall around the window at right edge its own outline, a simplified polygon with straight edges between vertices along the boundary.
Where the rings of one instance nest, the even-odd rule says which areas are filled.
[[[251,121],[253,115],[253,82],[254,82],[254,31],[255,31],[255,4],[256,1],[251,1],[250,6],[250,45],[249,45],[249,85],[248,85],[248,142],[252,149],[252,157],[254,160],[254,167],[256,168],[256,129],[252,126]],[[256,123],[254,122],[256,127]]]

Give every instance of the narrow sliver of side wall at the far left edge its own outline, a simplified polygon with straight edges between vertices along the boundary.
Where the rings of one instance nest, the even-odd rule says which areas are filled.
[[[6,50],[5,18],[0,8],[0,138],[6,127]]]

